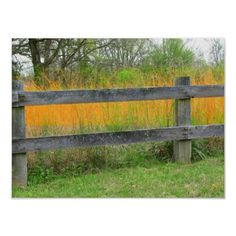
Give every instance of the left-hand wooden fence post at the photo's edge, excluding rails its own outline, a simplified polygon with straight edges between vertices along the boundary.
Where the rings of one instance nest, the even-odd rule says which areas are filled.
[[[17,80],[12,82],[12,91],[22,91],[23,83]],[[25,111],[24,107],[12,108],[12,138],[25,138]],[[12,185],[27,185],[27,157],[26,153],[12,154]]]

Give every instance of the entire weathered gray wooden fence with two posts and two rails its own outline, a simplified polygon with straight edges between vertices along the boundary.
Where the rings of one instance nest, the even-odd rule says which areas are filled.
[[[26,153],[29,151],[174,140],[176,162],[189,163],[191,162],[191,139],[224,136],[223,124],[190,125],[190,99],[222,97],[224,86],[191,86],[189,77],[176,78],[173,87],[44,92],[26,92],[21,82],[13,81],[12,91],[12,183],[15,186],[27,185]],[[27,105],[157,99],[175,99],[174,127],[25,138],[24,106]]]

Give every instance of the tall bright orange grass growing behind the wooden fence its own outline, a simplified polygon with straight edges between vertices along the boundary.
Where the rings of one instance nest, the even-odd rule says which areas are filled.
[[[107,80],[102,86],[90,83],[83,87],[71,82],[67,88],[172,86],[172,78],[163,80],[160,75],[153,73],[135,83],[116,83]],[[223,79],[216,81],[210,69],[200,79],[195,75],[191,78],[192,85],[224,83]],[[25,83],[24,89],[61,90],[64,86],[59,82],[48,80],[46,87],[39,87],[29,81]],[[27,106],[25,110],[28,137],[49,133],[59,135],[173,125],[173,100]],[[223,123],[224,98],[192,99],[191,118],[192,124]]]

